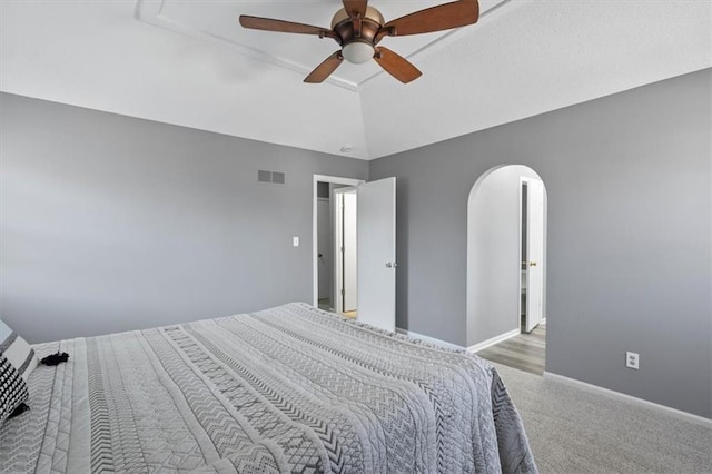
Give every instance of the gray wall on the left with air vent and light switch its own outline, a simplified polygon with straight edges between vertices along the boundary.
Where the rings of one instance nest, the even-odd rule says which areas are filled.
[[[6,93],[0,109],[0,317],[31,343],[312,303],[313,175],[368,175],[363,160]]]

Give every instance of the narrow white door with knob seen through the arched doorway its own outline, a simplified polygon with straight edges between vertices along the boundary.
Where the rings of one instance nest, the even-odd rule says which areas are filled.
[[[543,317],[544,300],[544,184],[527,179],[526,213],[526,332],[534,329]]]

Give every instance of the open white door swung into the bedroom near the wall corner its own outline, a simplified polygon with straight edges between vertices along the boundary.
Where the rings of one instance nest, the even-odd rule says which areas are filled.
[[[396,178],[357,187],[360,322],[396,327]]]

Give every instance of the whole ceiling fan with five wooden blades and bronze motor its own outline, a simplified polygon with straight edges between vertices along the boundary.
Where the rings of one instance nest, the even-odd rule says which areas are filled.
[[[315,34],[319,38],[332,38],[342,49],[326,58],[316,67],[305,82],[323,82],[346,59],[348,62],[362,63],[369,59],[376,62],[390,76],[407,83],[421,77],[422,72],[408,60],[396,52],[378,46],[385,37],[429,33],[472,24],[479,17],[477,0],[457,0],[419,10],[396,20],[386,21],[378,10],[368,7],[368,0],[343,0],[332,19],[332,29],[243,14],[240,24],[244,28],[283,33]]]

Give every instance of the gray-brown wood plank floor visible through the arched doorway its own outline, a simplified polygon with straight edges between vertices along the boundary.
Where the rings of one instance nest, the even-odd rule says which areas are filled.
[[[520,371],[544,374],[546,357],[546,325],[540,324],[530,334],[522,333],[511,339],[482,349],[477,355]]]

